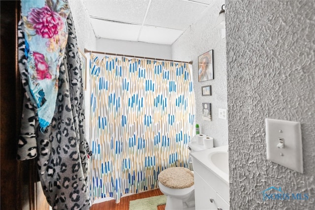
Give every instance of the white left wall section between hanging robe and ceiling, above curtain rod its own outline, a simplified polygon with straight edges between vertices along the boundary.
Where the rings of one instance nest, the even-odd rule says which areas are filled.
[[[92,29],[88,12],[81,0],[68,0],[73,16],[74,27],[78,39],[79,49],[95,50],[96,38]]]

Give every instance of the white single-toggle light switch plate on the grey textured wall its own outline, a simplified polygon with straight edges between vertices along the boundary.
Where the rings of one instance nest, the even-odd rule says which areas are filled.
[[[267,159],[303,174],[300,122],[274,119],[265,122]],[[280,147],[281,142],[284,142],[284,148]]]

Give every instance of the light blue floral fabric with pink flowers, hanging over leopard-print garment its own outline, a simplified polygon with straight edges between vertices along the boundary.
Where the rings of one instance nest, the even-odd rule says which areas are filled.
[[[45,129],[54,115],[58,76],[67,43],[67,0],[22,0],[25,56],[29,86],[39,126]]]

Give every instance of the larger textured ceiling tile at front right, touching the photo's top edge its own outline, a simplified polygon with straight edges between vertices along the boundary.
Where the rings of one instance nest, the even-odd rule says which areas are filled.
[[[207,5],[187,0],[152,0],[145,25],[186,30]]]

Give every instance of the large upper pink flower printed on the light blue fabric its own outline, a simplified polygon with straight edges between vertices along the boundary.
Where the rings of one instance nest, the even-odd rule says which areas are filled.
[[[59,30],[63,30],[61,16],[46,5],[42,8],[32,8],[28,14],[29,23],[43,38],[51,38],[58,34]]]

